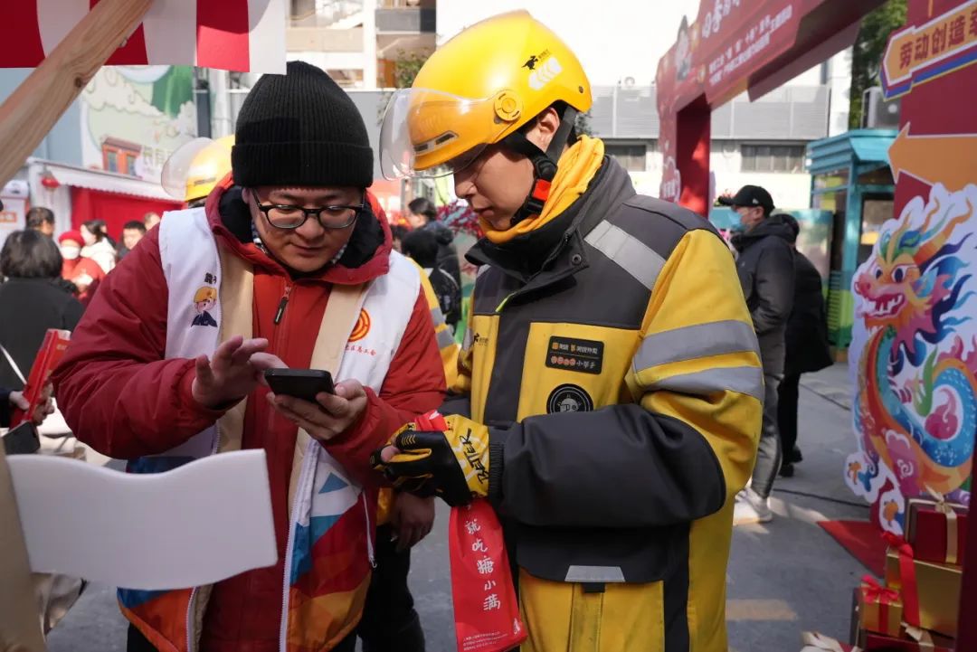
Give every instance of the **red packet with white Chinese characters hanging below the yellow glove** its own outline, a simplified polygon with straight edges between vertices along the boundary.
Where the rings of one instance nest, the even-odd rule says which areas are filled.
[[[526,639],[502,525],[487,500],[451,509],[451,596],[458,652],[505,652]]]

